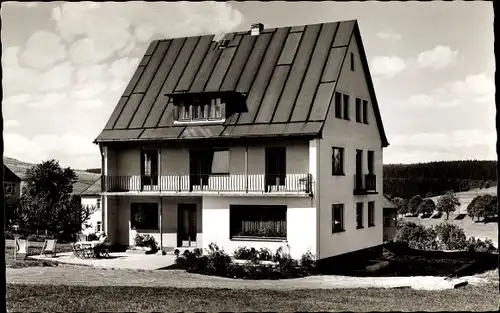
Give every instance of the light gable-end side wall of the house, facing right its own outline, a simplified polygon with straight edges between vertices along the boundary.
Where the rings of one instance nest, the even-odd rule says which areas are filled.
[[[350,53],[355,56],[355,71],[351,71]],[[337,92],[349,95],[350,120],[335,118],[335,103],[332,101],[327,121],[323,128],[323,139],[317,145],[319,154],[319,257],[327,258],[351,251],[382,244],[382,141],[371,106],[361,59],[355,37],[351,39],[346,59],[337,82]],[[368,124],[357,123],[355,115],[356,97],[368,100]],[[344,148],[345,176],[332,176],[332,147]],[[354,174],[356,149],[363,150],[363,174],[368,173],[367,151],[375,152],[374,171],[377,175],[377,195],[354,196]],[[368,227],[368,201],[375,201],[375,226]],[[364,202],[364,228],[356,229],[356,202]],[[345,232],[332,233],[332,204],[344,204]]]

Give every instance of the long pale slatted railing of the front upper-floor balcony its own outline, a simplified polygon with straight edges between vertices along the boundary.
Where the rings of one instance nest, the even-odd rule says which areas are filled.
[[[313,192],[311,174],[102,176],[103,192]]]

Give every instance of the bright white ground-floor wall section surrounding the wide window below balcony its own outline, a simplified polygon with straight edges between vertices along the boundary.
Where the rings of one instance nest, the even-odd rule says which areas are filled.
[[[203,248],[216,243],[232,254],[240,246],[260,249],[267,247],[274,253],[283,242],[231,240],[229,235],[229,206],[286,205],[287,241],[290,253],[300,258],[308,249],[316,254],[316,208],[311,198],[284,197],[203,197]]]

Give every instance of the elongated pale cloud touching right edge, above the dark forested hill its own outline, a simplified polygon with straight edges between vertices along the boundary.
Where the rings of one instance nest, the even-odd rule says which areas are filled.
[[[400,102],[411,108],[453,108],[472,103],[493,103],[495,83],[486,73],[469,75],[463,80],[444,84],[444,88],[434,89],[425,94],[414,94]]]

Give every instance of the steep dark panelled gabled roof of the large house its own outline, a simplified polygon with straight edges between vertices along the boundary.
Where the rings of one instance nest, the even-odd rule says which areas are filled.
[[[153,41],[95,142],[321,136],[353,33],[361,42],[355,20],[230,33],[222,49],[214,35]],[[248,111],[220,125],[174,125],[169,94],[221,91],[245,95]]]

